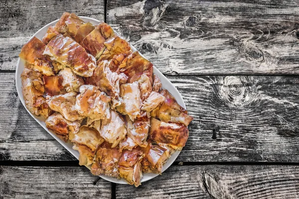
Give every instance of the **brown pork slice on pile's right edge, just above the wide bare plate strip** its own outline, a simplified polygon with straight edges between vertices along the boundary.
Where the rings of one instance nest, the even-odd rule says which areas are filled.
[[[141,73],[148,72],[149,81],[152,85],[152,63],[143,58],[138,51],[132,53],[124,59],[124,61],[119,66],[119,73],[125,73],[128,76],[128,81],[131,81],[131,78]]]

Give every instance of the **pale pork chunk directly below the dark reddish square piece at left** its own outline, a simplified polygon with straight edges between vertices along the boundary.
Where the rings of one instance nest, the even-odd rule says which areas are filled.
[[[52,110],[60,112],[67,120],[81,120],[83,117],[75,109],[76,95],[77,93],[70,92],[53,97],[47,96],[47,104]]]

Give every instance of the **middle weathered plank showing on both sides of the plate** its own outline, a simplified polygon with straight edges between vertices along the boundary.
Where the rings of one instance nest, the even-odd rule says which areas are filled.
[[[299,77],[168,78],[194,116],[177,161],[299,162]],[[75,160],[26,112],[14,73],[0,73],[0,90],[0,159]]]

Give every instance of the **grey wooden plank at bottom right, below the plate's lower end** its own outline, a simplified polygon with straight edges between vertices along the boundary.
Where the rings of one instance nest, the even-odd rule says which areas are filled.
[[[299,166],[172,166],[117,199],[297,199]]]

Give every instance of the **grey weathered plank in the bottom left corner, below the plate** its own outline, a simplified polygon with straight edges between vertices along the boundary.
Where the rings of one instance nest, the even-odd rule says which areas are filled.
[[[1,199],[111,198],[111,183],[85,167],[0,166]]]

